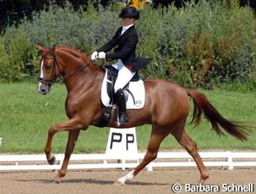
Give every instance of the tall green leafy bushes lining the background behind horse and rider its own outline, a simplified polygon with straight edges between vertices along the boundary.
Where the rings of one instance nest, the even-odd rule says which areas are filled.
[[[168,78],[189,87],[212,88],[222,83],[256,83],[256,20],[249,7],[235,0],[187,3],[177,9],[141,12],[137,55],[152,57],[143,78]],[[76,47],[91,54],[120,26],[118,7],[90,5],[78,12],[67,2],[50,5],[8,26],[0,36],[0,79],[21,81],[38,75],[36,43]],[[255,84],[253,84],[255,85]]]

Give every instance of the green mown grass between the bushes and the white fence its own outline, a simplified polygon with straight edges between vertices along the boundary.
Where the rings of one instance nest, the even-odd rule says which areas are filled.
[[[227,92],[201,90],[212,104],[226,118],[234,121],[249,121],[256,124],[256,94],[254,92]],[[36,83],[0,84],[0,153],[42,153],[45,147],[47,131],[51,125],[65,121],[64,85],[53,86],[52,91],[42,96],[37,92]],[[188,118],[189,122],[191,118]],[[109,129],[90,127],[82,131],[75,153],[104,152]],[[249,131],[250,139],[240,142],[230,135],[219,137],[211,131],[211,125],[203,119],[201,125],[187,125],[187,132],[203,149],[255,149],[256,132]],[[146,149],[149,141],[150,125],[140,126],[136,130],[139,149]],[[67,132],[55,135],[53,152],[64,153]],[[168,136],[161,149],[183,149],[172,136]]]

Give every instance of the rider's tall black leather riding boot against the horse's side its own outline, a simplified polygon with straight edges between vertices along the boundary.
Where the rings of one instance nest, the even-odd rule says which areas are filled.
[[[126,97],[122,89],[117,90],[115,98],[119,109],[119,122],[120,124],[126,124],[128,122],[126,116]]]

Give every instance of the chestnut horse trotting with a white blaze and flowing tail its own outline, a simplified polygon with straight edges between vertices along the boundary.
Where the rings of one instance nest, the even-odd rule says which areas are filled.
[[[69,120],[50,127],[45,145],[48,163],[53,164],[55,162],[55,156],[51,154],[53,136],[62,130],[69,131],[64,163],[55,177],[55,181],[60,182],[60,179],[67,172],[70,155],[73,153],[80,130],[87,130],[89,125],[97,126],[102,114],[107,109],[102,105],[100,99],[105,71],[93,64],[92,60],[79,50],[55,45],[52,48],[43,48],[40,45],[36,45],[36,47],[42,54],[38,92],[41,94],[50,92],[52,84],[59,80],[64,80],[68,92],[65,111]],[[200,172],[199,182],[206,181],[209,176],[198,154],[197,144],[185,131],[185,123],[190,111],[189,97],[192,97],[194,103],[192,123],[199,124],[201,115],[204,114],[218,135],[223,135],[222,130],[220,130],[221,127],[237,139],[247,140],[244,127],[221,116],[201,92],[187,90],[163,79],[145,79],[144,82],[145,106],[139,110],[127,111],[129,123],[117,125],[116,114],[112,114],[111,121],[107,125],[115,128],[152,125],[145,158],[134,170],[119,178],[116,183],[125,184],[127,180],[131,180],[147,164],[156,159],[159,145],[169,134],[173,135],[178,143],[183,145],[187,152],[192,155]]]

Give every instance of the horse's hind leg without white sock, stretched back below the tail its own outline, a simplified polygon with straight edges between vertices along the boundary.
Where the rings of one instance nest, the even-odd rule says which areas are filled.
[[[188,154],[192,155],[192,158],[197,163],[197,168],[201,174],[199,183],[204,183],[209,177],[205,165],[202,163],[201,157],[197,151],[197,144],[187,135],[184,128],[182,130],[172,131],[172,135],[178,140],[178,143],[183,145],[187,149]]]

